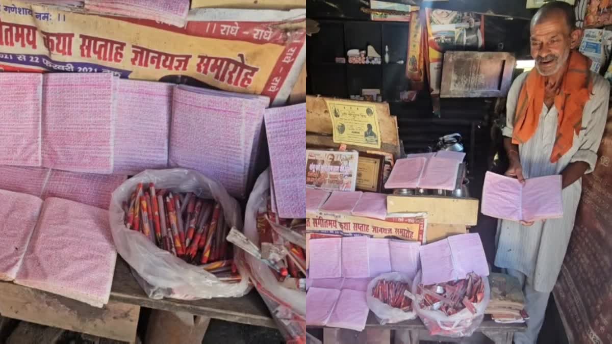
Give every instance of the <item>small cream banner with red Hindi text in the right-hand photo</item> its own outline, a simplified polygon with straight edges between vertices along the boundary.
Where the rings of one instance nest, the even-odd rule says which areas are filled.
[[[306,232],[338,236],[369,236],[423,242],[425,214],[393,214],[386,220],[318,211],[306,214]]]

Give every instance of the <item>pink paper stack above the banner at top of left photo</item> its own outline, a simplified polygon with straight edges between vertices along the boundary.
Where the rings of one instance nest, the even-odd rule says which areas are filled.
[[[161,21],[182,28],[187,23],[189,0],[85,0],[91,12]]]

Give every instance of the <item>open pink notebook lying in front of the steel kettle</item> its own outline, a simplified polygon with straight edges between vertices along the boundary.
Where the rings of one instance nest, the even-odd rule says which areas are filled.
[[[386,189],[441,189],[454,190],[463,153],[438,152],[417,154],[395,163]]]

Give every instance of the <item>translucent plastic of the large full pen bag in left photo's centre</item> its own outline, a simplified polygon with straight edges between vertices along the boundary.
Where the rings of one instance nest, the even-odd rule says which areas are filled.
[[[146,170],[125,181],[113,192],[109,209],[111,233],[119,255],[136,272],[136,280],[152,299],[171,297],[181,300],[211,299],[212,297],[240,297],[250,291],[244,252],[234,250],[234,261],[242,276],[239,283],[225,283],[201,267],[185,263],[172,253],[162,250],[138,231],[128,230],[124,224],[122,202],[129,200],[138,183],[155,183],[157,189],[173,192],[194,192],[217,200],[230,226],[242,230],[240,205],[222,185],[203,174],[185,168]]]

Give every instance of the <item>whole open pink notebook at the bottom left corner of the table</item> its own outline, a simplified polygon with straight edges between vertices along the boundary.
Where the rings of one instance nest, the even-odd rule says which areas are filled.
[[[94,307],[108,303],[117,252],[108,211],[0,190],[0,280]]]

